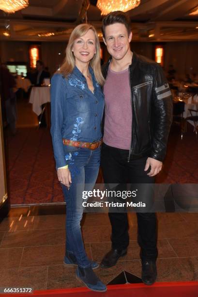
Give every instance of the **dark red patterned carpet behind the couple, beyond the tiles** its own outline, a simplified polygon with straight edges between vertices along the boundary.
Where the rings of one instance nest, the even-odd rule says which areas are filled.
[[[11,204],[63,202],[49,130],[21,128],[14,137],[8,136],[7,149]],[[183,140],[178,127],[172,129],[167,157],[156,182],[198,183],[197,168],[198,140],[191,127]]]

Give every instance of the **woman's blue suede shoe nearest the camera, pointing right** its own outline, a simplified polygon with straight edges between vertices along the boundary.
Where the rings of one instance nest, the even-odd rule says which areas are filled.
[[[76,278],[79,281],[82,281],[86,287],[88,287],[91,291],[95,292],[106,292],[106,285],[100,281],[100,279],[95,275],[91,266],[90,267],[77,267],[76,269]]]

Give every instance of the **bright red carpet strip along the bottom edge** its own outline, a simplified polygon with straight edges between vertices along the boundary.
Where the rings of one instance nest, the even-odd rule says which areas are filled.
[[[13,296],[6,294],[6,296]],[[152,286],[144,284],[124,284],[107,286],[107,292],[96,293],[91,292],[87,288],[60,289],[35,291],[33,294],[17,294],[17,296],[71,296],[71,297],[197,297],[198,296],[198,281],[186,282],[159,282]]]

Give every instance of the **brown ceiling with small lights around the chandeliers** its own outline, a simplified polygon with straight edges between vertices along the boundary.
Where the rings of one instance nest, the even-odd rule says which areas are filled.
[[[0,11],[0,40],[68,40],[81,20],[83,2],[29,0],[29,7],[15,14]],[[198,41],[198,15],[189,15],[197,6],[198,0],[141,0],[137,8],[127,12],[132,22],[133,41]],[[100,10],[90,5],[87,17],[101,35]],[[10,36],[4,36],[5,31]]]

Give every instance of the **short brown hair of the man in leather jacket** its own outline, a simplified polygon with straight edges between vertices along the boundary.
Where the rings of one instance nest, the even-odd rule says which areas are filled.
[[[102,33],[103,37],[105,38],[105,28],[108,25],[113,25],[115,23],[123,24],[128,31],[128,35],[131,33],[131,20],[127,14],[123,13],[122,11],[114,11],[107,16],[105,16],[102,20]]]

